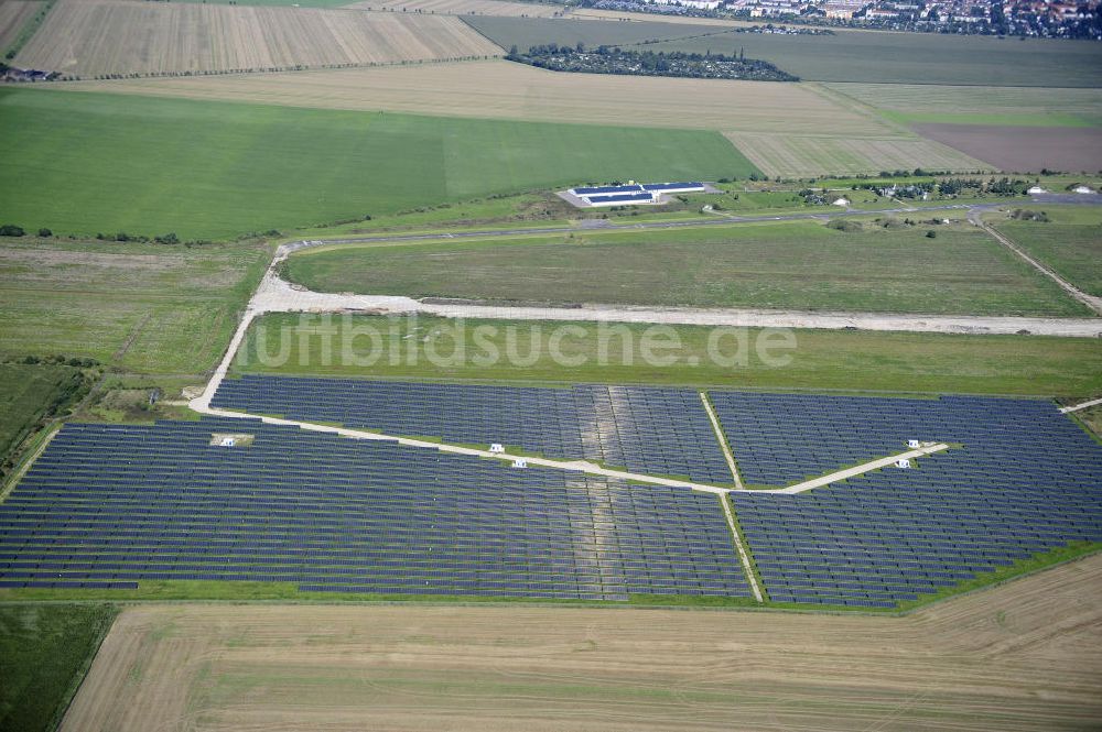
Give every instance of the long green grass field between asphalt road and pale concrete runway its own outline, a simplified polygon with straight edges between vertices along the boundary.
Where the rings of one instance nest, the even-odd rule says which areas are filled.
[[[312,289],[491,301],[1089,315],[974,228],[787,222],[347,247],[292,256]]]

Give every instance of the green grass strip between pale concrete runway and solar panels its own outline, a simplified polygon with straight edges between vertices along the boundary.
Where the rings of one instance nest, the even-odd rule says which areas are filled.
[[[788,356],[790,360],[770,365],[756,348],[759,330],[745,331],[745,347],[725,336],[710,350],[712,329],[681,326],[650,331],[652,339],[658,337],[652,345],[673,343],[655,351],[667,360],[672,358],[671,362],[650,365],[642,350],[648,326],[611,325],[602,339],[596,324],[572,324],[582,327],[582,335],[562,330],[564,325],[271,315],[252,326],[234,370],[549,384],[1054,396],[1102,392],[1102,342],[1098,339],[793,330],[795,349],[774,347],[771,351],[771,356]],[[378,338],[372,340],[369,331]],[[557,332],[564,335],[553,348],[551,340]],[[464,345],[458,353],[457,341]],[[715,351],[725,360],[711,358]],[[559,354],[569,360],[564,362]]]

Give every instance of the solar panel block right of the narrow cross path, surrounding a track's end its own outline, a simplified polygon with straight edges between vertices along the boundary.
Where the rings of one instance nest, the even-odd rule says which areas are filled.
[[[744,476],[758,482],[905,449],[908,437],[963,445],[915,470],[797,495],[732,493],[774,601],[894,607],[1069,542],[1102,540],[1102,448],[1050,402],[711,397]]]

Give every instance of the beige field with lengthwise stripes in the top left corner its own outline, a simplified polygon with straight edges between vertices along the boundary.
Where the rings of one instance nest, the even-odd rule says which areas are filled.
[[[15,63],[88,77],[390,64],[500,53],[458,18],[61,0]]]

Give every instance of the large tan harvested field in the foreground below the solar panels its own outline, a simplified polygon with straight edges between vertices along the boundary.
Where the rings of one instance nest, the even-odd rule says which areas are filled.
[[[1098,556],[906,618],[150,605],[62,729],[1085,729],[1100,644]]]

